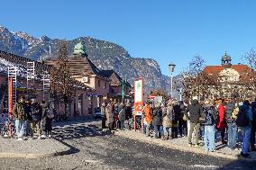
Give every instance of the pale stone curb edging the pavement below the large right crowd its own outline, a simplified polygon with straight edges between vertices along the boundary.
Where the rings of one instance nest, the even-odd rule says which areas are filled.
[[[134,133],[137,133],[137,132],[134,132]],[[195,154],[202,154],[202,155],[206,155],[206,156],[225,158],[225,159],[231,159],[231,160],[242,160],[242,161],[248,161],[248,162],[256,162],[256,158],[245,158],[245,157],[240,157],[239,155],[227,155],[227,154],[224,154],[224,153],[218,152],[218,151],[206,152],[203,149],[186,148],[185,146],[177,146],[177,145],[173,145],[171,143],[163,144],[162,142],[160,142],[161,140],[158,140],[158,139],[151,139],[151,138],[144,139],[144,138],[140,138],[137,136],[130,136],[130,135],[126,135],[122,131],[114,131],[114,135],[123,137],[126,139],[140,140],[142,142],[145,142],[148,144],[155,144],[155,145],[158,145],[158,146],[164,147],[164,148],[173,148],[173,149],[177,149],[177,150],[184,151],[184,152],[192,152]]]

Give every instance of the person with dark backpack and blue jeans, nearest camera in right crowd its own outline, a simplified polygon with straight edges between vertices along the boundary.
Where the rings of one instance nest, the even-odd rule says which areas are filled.
[[[242,106],[239,108],[239,113],[237,115],[236,124],[242,130],[242,157],[250,157],[249,145],[251,138],[251,121],[252,121],[252,112],[251,106],[248,100],[242,103]]]

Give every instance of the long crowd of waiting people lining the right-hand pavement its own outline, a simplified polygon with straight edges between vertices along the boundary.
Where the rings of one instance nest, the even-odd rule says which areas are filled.
[[[230,149],[239,147],[238,134],[241,134],[241,156],[249,157],[249,152],[256,151],[256,99],[238,103],[230,98],[218,102],[203,98],[193,98],[190,102],[147,102],[142,112],[143,132],[147,137],[151,137],[153,133],[154,138],[163,140],[187,136],[189,147],[204,147],[209,152],[215,151],[218,139],[216,134],[220,133],[222,144]],[[103,103],[102,127],[105,128],[106,124],[109,130],[133,129],[133,124],[129,126],[135,116],[132,111],[132,104],[129,103]]]

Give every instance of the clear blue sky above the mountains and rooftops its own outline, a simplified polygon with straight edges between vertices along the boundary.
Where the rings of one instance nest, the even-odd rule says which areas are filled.
[[[241,62],[256,47],[256,1],[242,0],[8,0],[0,25],[35,37],[90,36],[154,58],[163,74],[178,74],[196,54],[220,64],[224,51]]]

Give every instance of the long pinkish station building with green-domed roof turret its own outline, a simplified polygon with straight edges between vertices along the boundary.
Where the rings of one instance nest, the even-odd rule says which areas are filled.
[[[37,101],[53,100],[54,107],[59,112],[64,112],[63,101],[61,102],[61,99],[57,98],[58,95],[50,94],[49,91],[50,70],[56,67],[57,61],[57,58],[53,58],[38,62],[0,51],[0,83],[6,87],[10,70],[15,68],[14,91],[18,92],[14,95],[15,97],[25,94],[28,99],[36,98]],[[87,58],[86,49],[82,43],[79,42],[75,46],[73,55],[67,58],[66,64],[74,79],[76,89],[72,102],[69,104],[71,111],[69,116],[94,114],[105,100],[111,100],[114,103],[121,102],[123,92],[125,102],[132,99],[130,94],[132,85],[123,81],[113,70],[98,69]]]

